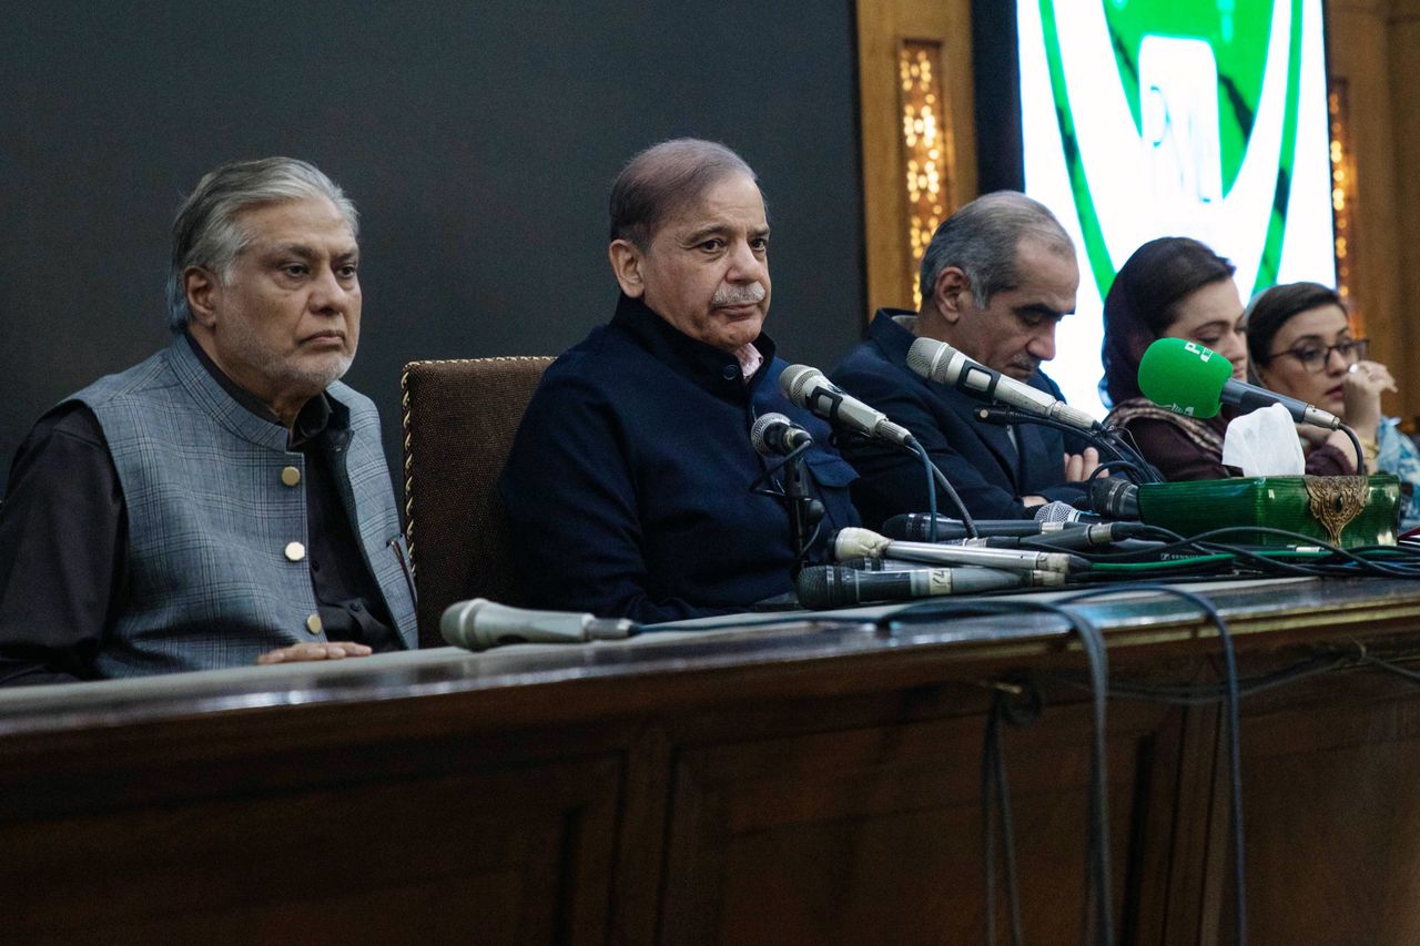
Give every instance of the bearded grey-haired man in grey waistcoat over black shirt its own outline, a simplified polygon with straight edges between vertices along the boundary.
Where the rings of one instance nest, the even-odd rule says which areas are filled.
[[[415,646],[359,341],[355,207],[288,158],[173,224],[172,344],[62,401],[0,507],[0,683]]]

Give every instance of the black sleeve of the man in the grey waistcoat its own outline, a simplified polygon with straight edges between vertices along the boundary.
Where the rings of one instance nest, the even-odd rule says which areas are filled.
[[[104,432],[87,406],[64,405],[20,445],[0,506],[0,686],[92,676],[125,544]]]

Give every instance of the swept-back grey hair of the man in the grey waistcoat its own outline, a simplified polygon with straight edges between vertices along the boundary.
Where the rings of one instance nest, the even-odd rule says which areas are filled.
[[[251,243],[241,226],[244,210],[268,203],[327,197],[359,236],[359,214],[339,186],[318,168],[295,158],[233,161],[207,172],[183,200],[173,220],[172,267],[168,271],[168,327],[182,332],[192,321],[183,273],[193,266],[210,270],[223,283],[231,264]]]

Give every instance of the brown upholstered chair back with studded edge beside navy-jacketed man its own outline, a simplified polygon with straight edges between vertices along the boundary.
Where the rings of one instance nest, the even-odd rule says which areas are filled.
[[[518,601],[497,486],[550,364],[470,358],[405,365],[405,534],[419,588],[420,646],[443,646],[439,616],[454,601]]]

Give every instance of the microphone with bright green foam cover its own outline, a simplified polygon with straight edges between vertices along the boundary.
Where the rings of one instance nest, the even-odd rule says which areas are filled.
[[[1211,418],[1224,403],[1244,411],[1279,403],[1296,423],[1339,430],[1342,419],[1305,401],[1233,379],[1218,352],[1183,338],[1160,338],[1139,359],[1139,389],[1160,408],[1189,418]]]

